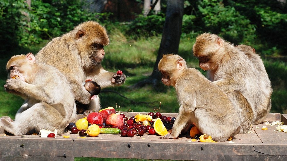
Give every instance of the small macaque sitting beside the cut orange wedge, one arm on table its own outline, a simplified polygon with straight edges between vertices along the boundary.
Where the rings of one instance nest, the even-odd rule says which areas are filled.
[[[240,120],[228,96],[198,70],[188,68],[182,57],[163,55],[158,70],[163,84],[174,86],[180,103],[172,132],[163,138],[176,139],[192,123],[215,141],[238,133]]]

